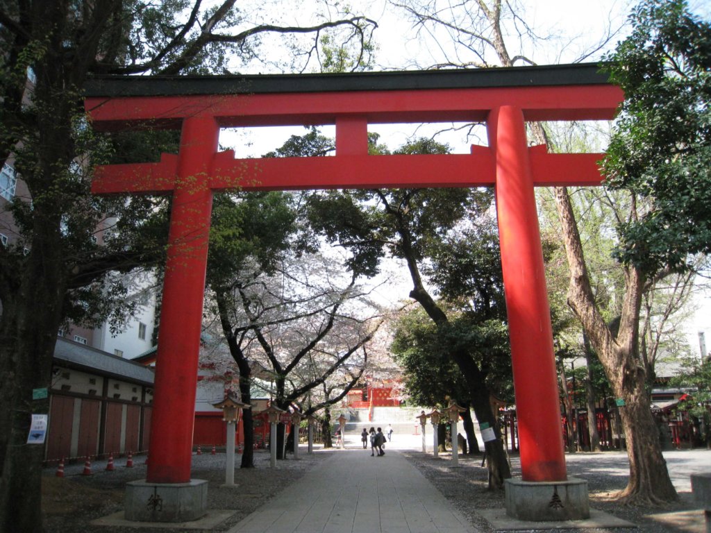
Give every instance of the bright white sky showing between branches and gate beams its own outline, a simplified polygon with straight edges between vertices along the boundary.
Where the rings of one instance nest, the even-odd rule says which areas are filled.
[[[278,21],[281,24],[307,25],[314,22],[315,5],[324,5],[319,0],[276,0],[281,6]],[[440,0],[441,4],[444,1]],[[512,0],[515,3],[515,0]],[[474,4],[474,1],[471,1]],[[611,50],[624,38],[626,16],[634,2],[631,0],[520,0],[518,4],[525,9],[525,21],[533,28],[540,40],[536,43],[525,38],[509,38],[507,41],[510,55],[525,53],[538,65],[577,62],[590,50],[596,50],[584,61],[595,61],[602,58],[602,53]],[[691,8],[705,18],[711,15],[711,2],[707,0],[691,0]],[[412,23],[402,13],[387,3],[387,0],[352,0],[353,12],[363,12],[369,18],[378,21],[375,31],[375,65],[373,70],[395,70],[426,68],[429,65],[442,63],[445,57],[453,57],[454,52],[449,46],[451,36],[446,33],[416,33]],[[505,28],[513,26],[505,26]],[[606,48],[597,50],[597,44],[610,29],[619,29],[609,40]],[[505,30],[506,31],[506,30]],[[268,45],[268,43],[267,43]],[[272,48],[270,53],[289,53],[288,50]],[[461,47],[459,48],[461,50]],[[471,60],[472,56],[459,55],[460,60]],[[495,63],[491,59],[491,63]],[[267,73],[266,65],[250,63],[242,65],[240,72],[245,74]],[[308,71],[308,70],[307,70]],[[314,71],[314,68],[311,69]],[[412,125],[392,124],[373,125],[369,131],[381,134],[380,140],[390,149],[401,146],[415,136],[430,136],[435,131],[447,129],[451,124]],[[220,141],[233,147],[237,157],[259,157],[267,151],[284,144],[289,136],[301,135],[304,129],[289,128],[252,128],[239,132],[223,134]],[[327,136],[334,136],[333,126],[325,126],[322,131]],[[438,140],[447,142],[454,153],[468,153],[470,144],[486,144],[486,136],[466,136],[464,132],[441,134]],[[397,269],[397,268],[395,268]],[[407,281],[398,294],[407,297]],[[384,298],[389,297],[383,294]],[[711,348],[711,292],[698,291],[695,298],[698,311],[687,324],[688,342],[694,355],[699,355],[699,333],[705,335],[707,350]]]

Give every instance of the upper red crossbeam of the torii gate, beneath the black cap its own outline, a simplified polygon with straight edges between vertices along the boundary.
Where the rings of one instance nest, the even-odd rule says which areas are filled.
[[[179,127],[188,117],[215,117],[220,126],[335,124],[339,115],[369,124],[483,122],[491,109],[513,105],[527,120],[607,120],[622,92],[614,85],[486,87],[264,95],[93,97],[85,100],[97,129],[149,122]]]

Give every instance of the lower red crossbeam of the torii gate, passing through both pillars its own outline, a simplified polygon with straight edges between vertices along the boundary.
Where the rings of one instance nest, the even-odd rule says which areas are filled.
[[[232,151],[215,154],[208,183],[213,190],[296,190],[372,187],[478,187],[496,181],[486,146],[474,154],[413,156],[336,156],[235,159]],[[547,154],[530,149],[535,185],[599,185],[602,154]],[[173,176],[170,176],[170,173]],[[171,163],[100,166],[95,194],[165,194],[172,190]],[[141,176],[137,179],[136,176]]]

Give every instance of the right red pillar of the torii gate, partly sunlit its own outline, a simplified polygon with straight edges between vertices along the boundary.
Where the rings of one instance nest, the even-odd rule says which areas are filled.
[[[496,212],[521,473],[525,481],[562,481],[567,476],[550,307],[523,113],[512,106],[494,109],[487,126],[496,154]]]

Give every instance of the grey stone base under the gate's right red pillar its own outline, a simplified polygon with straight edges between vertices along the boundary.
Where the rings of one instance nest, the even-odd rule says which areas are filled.
[[[534,483],[507,479],[505,487],[506,515],[511,518],[556,522],[590,517],[585,480],[568,478],[567,481]]]

